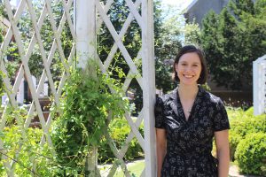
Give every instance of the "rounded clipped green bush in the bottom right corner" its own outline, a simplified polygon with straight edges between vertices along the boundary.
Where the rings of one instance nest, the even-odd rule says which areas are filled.
[[[266,134],[254,133],[239,142],[236,159],[241,173],[266,173]]]

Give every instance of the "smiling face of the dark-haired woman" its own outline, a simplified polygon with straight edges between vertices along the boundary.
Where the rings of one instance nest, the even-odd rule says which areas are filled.
[[[176,64],[176,73],[180,84],[197,84],[201,73],[200,57],[196,52],[185,53]]]

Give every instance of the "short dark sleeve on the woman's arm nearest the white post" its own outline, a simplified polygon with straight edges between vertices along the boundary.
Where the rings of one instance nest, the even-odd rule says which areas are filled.
[[[163,101],[160,96],[156,96],[156,103],[154,105],[154,115],[155,115],[155,127],[165,128],[164,125],[164,108]]]

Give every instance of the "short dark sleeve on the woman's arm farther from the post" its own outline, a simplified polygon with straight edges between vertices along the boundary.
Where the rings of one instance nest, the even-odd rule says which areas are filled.
[[[216,112],[214,119],[214,130],[221,131],[230,129],[229,119],[222,100],[219,98],[216,104]]]

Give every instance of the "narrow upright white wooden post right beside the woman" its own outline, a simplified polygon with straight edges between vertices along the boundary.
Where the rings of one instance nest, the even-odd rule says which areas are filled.
[[[153,0],[142,3],[142,71],[144,78],[143,103],[145,121],[145,176],[156,176],[155,128],[155,69],[153,47]]]

